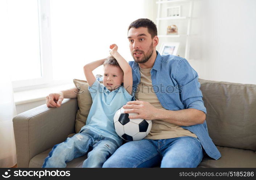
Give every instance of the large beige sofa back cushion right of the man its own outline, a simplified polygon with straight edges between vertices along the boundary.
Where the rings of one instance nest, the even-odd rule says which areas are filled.
[[[199,79],[215,145],[256,151],[256,85]]]

